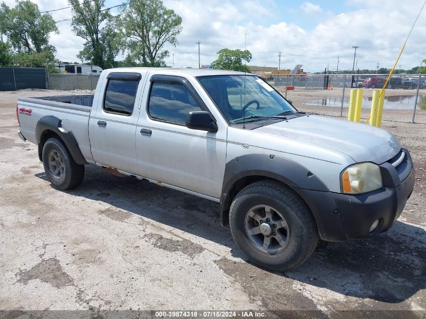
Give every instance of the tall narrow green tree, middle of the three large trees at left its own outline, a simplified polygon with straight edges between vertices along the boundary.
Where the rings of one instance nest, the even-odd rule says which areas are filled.
[[[105,0],[69,0],[73,7],[73,30],[86,42],[77,55],[102,69],[114,67],[114,58],[120,51],[115,18],[109,10],[102,11]]]

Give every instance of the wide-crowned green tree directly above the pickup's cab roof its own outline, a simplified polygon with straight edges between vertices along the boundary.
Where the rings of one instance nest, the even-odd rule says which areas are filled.
[[[129,60],[139,61],[146,67],[165,67],[169,51],[166,43],[177,44],[182,31],[182,18],[167,9],[161,0],[132,1],[120,17],[120,29]]]

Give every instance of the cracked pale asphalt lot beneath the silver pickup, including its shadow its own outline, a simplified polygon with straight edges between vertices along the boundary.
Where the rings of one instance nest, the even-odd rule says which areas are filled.
[[[73,92],[68,92],[72,94]],[[0,94],[0,309],[426,309],[426,125],[384,122],[412,153],[416,183],[395,225],[371,240],[320,242],[286,273],[260,269],[219,225],[219,204],[86,167],[53,189]]]

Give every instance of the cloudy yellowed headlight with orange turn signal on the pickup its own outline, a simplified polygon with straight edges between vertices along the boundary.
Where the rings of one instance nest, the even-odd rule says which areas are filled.
[[[362,194],[383,186],[379,165],[359,163],[346,168],[341,177],[342,191],[346,194]]]

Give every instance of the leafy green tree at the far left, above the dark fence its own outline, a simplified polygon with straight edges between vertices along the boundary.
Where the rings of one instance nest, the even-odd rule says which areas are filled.
[[[49,34],[58,32],[55,21],[49,13],[40,14],[37,4],[29,0],[17,1],[12,9],[3,2],[0,5],[0,29],[17,52],[56,51],[49,44]]]

